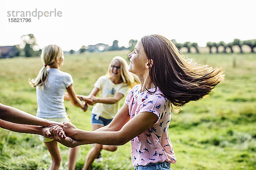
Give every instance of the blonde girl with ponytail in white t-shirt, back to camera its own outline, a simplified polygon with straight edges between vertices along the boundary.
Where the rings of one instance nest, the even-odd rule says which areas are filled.
[[[76,107],[87,110],[87,103],[83,104],[76,97],[73,88],[73,79],[70,74],[60,70],[64,64],[64,55],[57,45],[48,45],[42,50],[41,59],[43,67],[35,79],[29,84],[36,88],[38,109],[36,116],[56,122],[70,121],[64,107],[64,94],[67,90],[69,100]],[[61,163],[60,148],[56,141],[40,136],[52,156],[50,170],[58,170]],[[74,170],[79,147],[70,149],[69,170]]]

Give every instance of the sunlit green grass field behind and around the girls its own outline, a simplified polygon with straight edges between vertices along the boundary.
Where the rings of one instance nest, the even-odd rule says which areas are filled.
[[[77,94],[88,95],[108,63],[128,51],[65,56],[62,71],[73,76]],[[223,68],[226,76],[214,91],[198,102],[190,102],[180,113],[172,113],[169,135],[177,163],[174,170],[253,170],[256,167],[256,54],[186,54],[198,63]],[[42,63],[39,57],[0,59],[0,102],[28,113],[36,113],[35,78]],[[123,102],[123,100],[122,100]],[[90,129],[90,106],[81,112],[65,101],[76,127]],[[61,147],[61,170],[67,170],[68,148]],[[80,147],[76,169],[83,166],[92,145]],[[93,170],[133,170],[130,143],[116,152],[102,151],[104,161]],[[0,129],[1,170],[47,170],[50,154],[37,135]]]

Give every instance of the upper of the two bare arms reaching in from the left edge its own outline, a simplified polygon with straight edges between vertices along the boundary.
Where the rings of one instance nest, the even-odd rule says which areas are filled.
[[[63,126],[62,123],[49,121],[47,119],[42,119],[32,114],[21,111],[17,108],[11,106],[3,105],[0,103],[0,119],[28,125],[39,125],[44,127],[52,127],[53,125]]]

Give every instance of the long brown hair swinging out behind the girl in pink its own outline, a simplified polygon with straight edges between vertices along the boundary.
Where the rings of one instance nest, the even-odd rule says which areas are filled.
[[[180,107],[189,101],[197,101],[224,81],[220,68],[184,59],[177,47],[161,35],[145,36],[141,42],[148,62],[153,60],[152,67],[148,69],[151,81],[160,88],[172,106]]]

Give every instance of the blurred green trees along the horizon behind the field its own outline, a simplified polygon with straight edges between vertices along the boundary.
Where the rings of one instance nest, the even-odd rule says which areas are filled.
[[[23,43],[19,45],[15,45],[15,56],[25,56],[25,57],[32,57],[32,56],[40,56],[41,49],[39,48],[38,42],[33,34],[27,34],[21,36],[21,40]],[[198,43],[197,42],[184,42],[184,43],[178,43],[176,40],[171,40],[177,48],[187,48],[187,53],[191,53],[191,48],[194,47],[196,50],[196,53],[200,53],[198,49]],[[74,53],[84,53],[84,52],[100,52],[100,51],[117,51],[117,50],[129,50],[133,51],[134,47],[137,43],[137,40],[129,40],[128,48],[125,48],[124,46],[119,47],[118,40],[114,40],[113,44],[111,46],[99,43],[96,45],[82,45],[79,51],[74,51],[73,49],[70,51],[67,51],[70,54]],[[219,47],[223,47],[222,53],[227,53],[227,49],[230,49],[230,52],[233,53],[234,46],[239,46],[240,53],[243,53],[242,46],[247,45],[251,49],[251,53],[254,52],[254,49],[256,47],[256,40],[245,40],[241,41],[239,39],[234,39],[232,42],[225,43],[224,41],[220,42],[207,42],[206,46],[209,48],[209,53],[212,53],[212,48],[216,48],[216,53],[219,53]],[[13,56],[13,57],[15,57]]]

